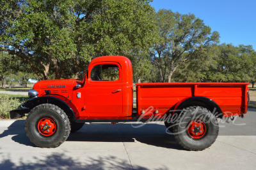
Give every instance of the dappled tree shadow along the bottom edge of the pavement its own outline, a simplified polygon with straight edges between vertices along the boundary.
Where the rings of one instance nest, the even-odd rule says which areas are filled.
[[[81,160],[68,157],[65,153],[52,153],[51,155],[41,155],[33,158],[36,162],[19,160],[19,164],[14,164],[10,159],[0,160],[0,169],[147,169],[146,167],[130,164],[127,160],[119,159],[115,156],[89,157],[81,163]],[[168,169],[167,167],[157,168]]]

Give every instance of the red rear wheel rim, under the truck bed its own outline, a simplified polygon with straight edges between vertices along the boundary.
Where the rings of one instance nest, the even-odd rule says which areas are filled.
[[[205,135],[206,126],[200,120],[194,120],[188,125],[188,134],[191,138],[200,139]]]

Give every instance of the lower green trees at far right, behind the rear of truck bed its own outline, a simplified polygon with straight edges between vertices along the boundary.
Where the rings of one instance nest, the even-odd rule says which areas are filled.
[[[192,59],[177,70],[176,81],[255,82],[256,53],[251,45],[212,45],[203,60]]]

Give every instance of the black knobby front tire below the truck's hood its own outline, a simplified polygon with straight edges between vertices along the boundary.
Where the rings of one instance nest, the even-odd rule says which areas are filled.
[[[40,120],[47,118],[54,122],[54,132],[45,136],[40,132]],[[40,104],[33,108],[26,118],[25,131],[32,143],[41,148],[56,148],[61,145],[70,134],[70,122],[66,113],[54,104]]]

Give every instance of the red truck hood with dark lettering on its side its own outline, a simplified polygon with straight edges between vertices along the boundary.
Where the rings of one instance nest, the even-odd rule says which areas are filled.
[[[45,90],[51,90],[51,94],[72,92],[77,84],[82,84],[82,82],[76,79],[42,80],[35,83],[33,89],[38,92],[38,96],[42,96]]]

